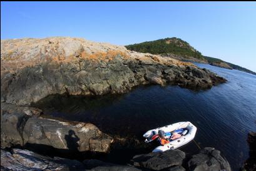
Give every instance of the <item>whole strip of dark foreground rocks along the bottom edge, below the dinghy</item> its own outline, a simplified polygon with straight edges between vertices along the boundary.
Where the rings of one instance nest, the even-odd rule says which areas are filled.
[[[188,162],[184,159],[187,158]],[[117,165],[101,160],[70,160],[47,157],[29,150],[1,149],[1,170],[226,170],[231,171],[220,151],[207,147],[187,157],[181,150],[135,155],[130,164]]]

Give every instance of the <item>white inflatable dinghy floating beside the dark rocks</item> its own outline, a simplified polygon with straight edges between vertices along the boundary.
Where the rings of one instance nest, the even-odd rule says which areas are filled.
[[[177,149],[178,147],[187,144],[194,139],[195,133],[197,132],[197,127],[195,127],[195,125],[193,125],[191,122],[178,122],[175,124],[166,125],[165,127],[151,129],[143,135],[143,137],[146,138],[145,142],[150,142],[152,137],[159,133],[159,130],[160,132],[164,132],[164,136],[168,140],[170,140],[172,132],[177,132],[182,136],[178,139],[170,140],[170,142],[166,143],[165,145],[156,147],[153,152],[164,152],[170,149]]]

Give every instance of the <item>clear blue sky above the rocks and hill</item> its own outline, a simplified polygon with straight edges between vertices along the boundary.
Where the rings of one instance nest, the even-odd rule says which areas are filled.
[[[50,36],[118,45],[180,37],[256,72],[256,2],[1,2],[1,39]]]

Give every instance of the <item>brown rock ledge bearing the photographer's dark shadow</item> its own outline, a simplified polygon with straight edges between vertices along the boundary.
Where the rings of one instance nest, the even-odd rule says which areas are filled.
[[[72,152],[107,152],[113,142],[112,137],[93,124],[62,122],[28,115],[31,112],[27,111],[38,111],[34,108],[26,107],[24,113],[9,113],[4,103],[1,103],[1,107],[1,148],[38,144]]]

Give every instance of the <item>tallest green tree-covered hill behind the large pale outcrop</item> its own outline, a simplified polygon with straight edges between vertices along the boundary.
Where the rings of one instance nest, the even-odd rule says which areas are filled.
[[[203,59],[200,52],[195,50],[188,42],[182,41],[176,37],[159,39],[156,41],[141,42],[139,44],[131,44],[125,46],[131,51],[150,53],[150,54],[176,54],[183,57],[195,57]]]

